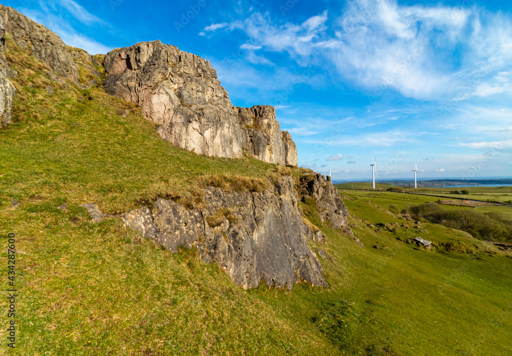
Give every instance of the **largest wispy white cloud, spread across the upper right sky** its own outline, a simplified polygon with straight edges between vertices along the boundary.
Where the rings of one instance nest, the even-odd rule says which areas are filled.
[[[301,24],[276,24],[268,13],[256,12],[207,29],[240,29],[254,51],[287,52],[300,65],[321,58],[324,65],[331,62],[345,79],[376,96],[391,88],[416,99],[444,99],[460,91],[480,64],[488,67],[487,74],[495,81],[509,75],[504,69],[512,59],[512,22],[500,13],[476,6],[353,0],[341,17],[328,20],[325,11]],[[454,100],[508,90],[492,83],[486,87],[489,78],[480,78],[476,93],[472,87]]]

